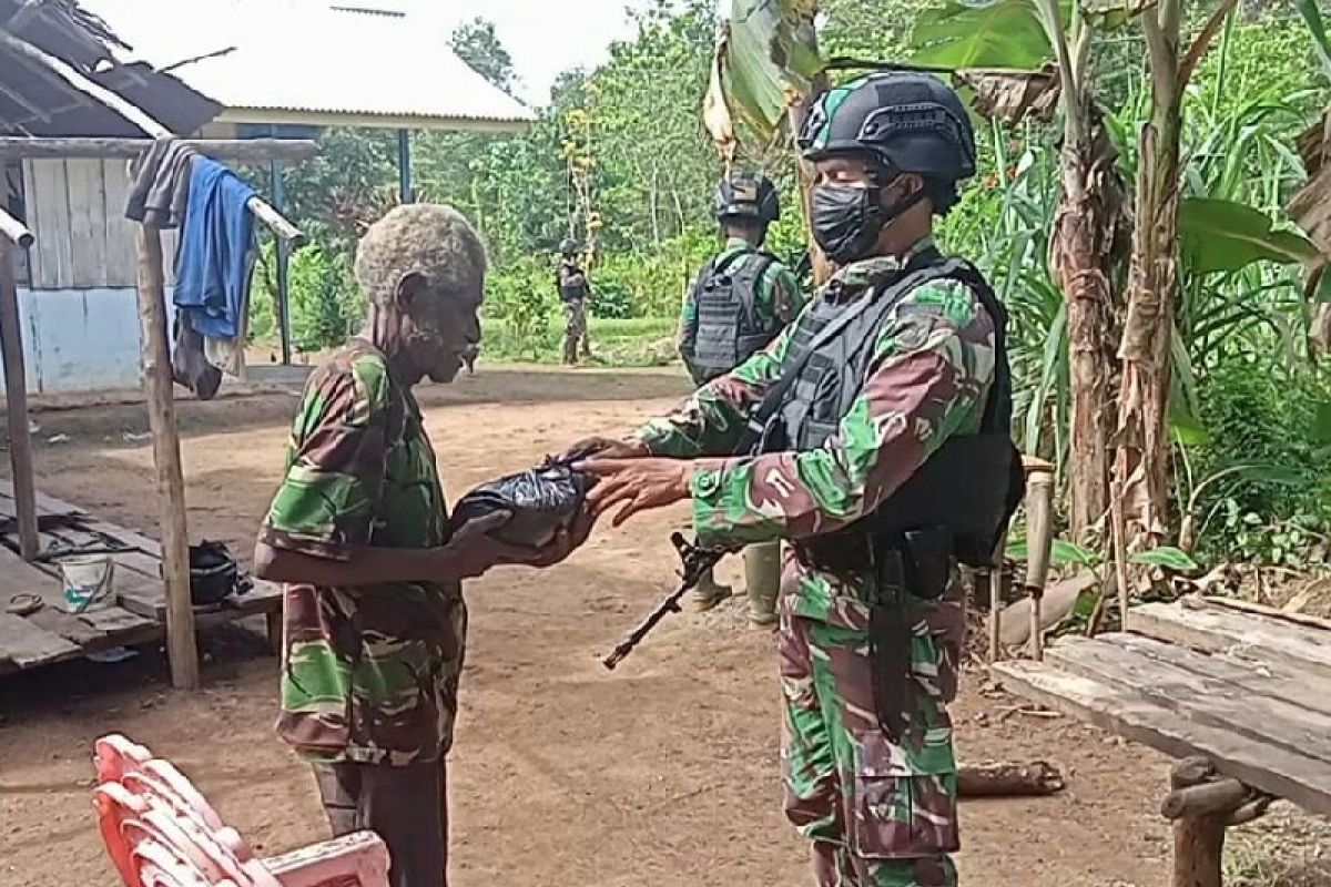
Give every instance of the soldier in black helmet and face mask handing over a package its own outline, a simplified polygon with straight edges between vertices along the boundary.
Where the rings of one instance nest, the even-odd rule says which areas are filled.
[[[840,271],[772,346],[584,467],[602,477],[598,513],[622,505],[616,524],[687,499],[704,547],[792,541],[780,606],[785,806],[813,842],[817,883],[950,887],[957,763],[946,705],[960,598],[948,555],[926,600],[913,578],[882,569],[905,563],[904,537],[872,528],[954,440],[993,427],[1012,449],[1002,309],[978,273],[954,277],[932,241],[932,217],[974,173],[974,138],[948,86],[884,73],[825,93],[801,146],[819,172],[815,235]],[[783,386],[787,372],[799,374],[793,386]],[[731,455],[769,392],[779,410],[763,431],[783,434],[764,436],[771,445],[757,455]],[[1001,484],[1008,515],[1010,464],[1004,479],[973,479]],[[864,561],[832,565],[832,540]],[[897,642],[882,642],[880,618],[898,621]],[[882,670],[892,657],[900,669]]]

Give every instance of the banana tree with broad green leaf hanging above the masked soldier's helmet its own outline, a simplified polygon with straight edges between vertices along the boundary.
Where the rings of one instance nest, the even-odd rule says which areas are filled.
[[[913,35],[920,47],[914,61],[1009,69],[962,77],[981,113],[1012,122],[1046,114],[1057,98],[1061,195],[1049,265],[1066,301],[1069,448],[1077,453],[1067,465],[1069,517],[1078,541],[1095,535],[1109,508],[1118,315],[1110,281],[1126,231],[1125,189],[1095,105],[1090,51],[1097,29],[1121,19],[1059,0],[945,0],[921,17]]]

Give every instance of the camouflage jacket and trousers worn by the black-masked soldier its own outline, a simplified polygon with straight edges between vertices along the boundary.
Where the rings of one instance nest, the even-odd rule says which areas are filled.
[[[929,243],[921,243],[924,249]],[[816,298],[853,299],[900,270],[853,263]],[[902,297],[882,320],[858,396],[823,447],[727,456],[780,378],[799,320],[767,350],[638,434],[655,455],[695,459],[701,544],[796,543],[845,527],[885,501],[942,443],[980,427],[994,371],[994,327],[956,281]],[[720,457],[717,457],[720,456]],[[872,580],[787,555],[780,610],[789,818],[815,840],[820,883],[933,887],[954,882],[956,763],[945,705],[964,633],[958,589],[920,604],[912,676],[917,707],[892,742],[877,725],[866,630]]]

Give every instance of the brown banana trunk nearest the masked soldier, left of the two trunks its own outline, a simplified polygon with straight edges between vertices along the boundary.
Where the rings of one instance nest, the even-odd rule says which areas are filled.
[[[1054,211],[1049,262],[1067,299],[1071,394],[1069,481],[1071,533],[1077,541],[1109,507],[1111,382],[1115,305],[1109,281],[1121,188],[1103,130],[1086,114],[1083,141],[1067,138],[1059,158],[1062,194]]]

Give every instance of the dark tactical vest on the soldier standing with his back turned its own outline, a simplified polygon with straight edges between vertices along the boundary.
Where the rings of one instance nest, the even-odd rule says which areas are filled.
[[[765,348],[781,331],[775,317],[757,310],[763,275],[776,257],[741,250],[712,259],[697,275],[689,299],[697,307],[697,324],[680,344],[695,380],[711,382]]]

